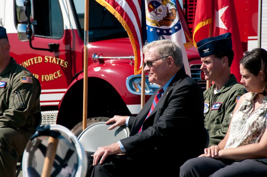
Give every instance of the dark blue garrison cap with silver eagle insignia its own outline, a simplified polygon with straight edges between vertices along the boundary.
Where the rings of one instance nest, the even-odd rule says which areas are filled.
[[[206,38],[198,41],[198,53],[201,57],[218,54],[232,48],[232,34],[226,33],[216,37]]]

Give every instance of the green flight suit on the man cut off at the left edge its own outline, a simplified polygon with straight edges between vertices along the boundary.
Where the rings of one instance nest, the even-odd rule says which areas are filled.
[[[40,121],[41,85],[11,57],[0,73],[0,176],[15,176],[17,156]],[[38,121],[38,122],[37,122]]]

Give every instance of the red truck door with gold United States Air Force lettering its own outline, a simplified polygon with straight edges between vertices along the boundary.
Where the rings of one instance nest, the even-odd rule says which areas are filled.
[[[70,23],[66,1],[33,0],[34,36],[32,46],[48,48],[59,45],[53,52],[34,50],[29,41],[20,41],[17,34],[9,34],[11,56],[29,69],[41,83],[41,105],[58,105],[72,78],[70,51]],[[18,14],[15,12],[16,19]],[[18,24],[18,20],[16,21]]]

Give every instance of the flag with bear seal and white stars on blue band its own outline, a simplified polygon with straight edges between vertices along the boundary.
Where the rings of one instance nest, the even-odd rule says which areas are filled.
[[[143,39],[148,42],[158,40],[160,36],[177,42],[183,51],[183,64],[186,74],[191,75],[184,44],[186,37],[177,11],[176,0],[143,0],[145,15],[142,14]],[[144,19],[145,17],[145,19]],[[146,33],[146,35],[145,35]]]

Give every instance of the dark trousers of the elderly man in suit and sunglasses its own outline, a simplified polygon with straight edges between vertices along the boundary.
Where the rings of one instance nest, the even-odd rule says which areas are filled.
[[[162,177],[178,176],[179,174],[180,166],[178,163],[162,161],[161,157],[155,154],[110,155],[104,160],[103,164],[97,164],[96,166],[92,166],[93,157],[91,157],[91,154],[94,153],[87,153],[87,177]]]

